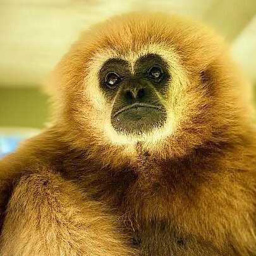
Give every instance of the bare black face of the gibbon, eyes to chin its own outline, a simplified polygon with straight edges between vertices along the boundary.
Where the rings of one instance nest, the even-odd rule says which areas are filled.
[[[169,79],[168,64],[157,54],[140,56],[132,70],[125,59],[108,59],[99,72],[99,85],[113,105],[114,130],[140,135],[163,126]]]

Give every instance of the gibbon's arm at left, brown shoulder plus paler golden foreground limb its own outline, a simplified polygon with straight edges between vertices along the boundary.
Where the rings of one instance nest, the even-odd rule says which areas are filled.
[[[133,255],[106,207],[61,178],[58,138],[46,130],[0,161],[0,255]]]

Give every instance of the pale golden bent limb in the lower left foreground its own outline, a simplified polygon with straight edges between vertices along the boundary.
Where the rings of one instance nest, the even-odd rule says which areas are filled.
[[[42,168],[43,169],[43,168]],[[114,216],[49,170],[23,176],[10,197],[0,255],[134,255]]]

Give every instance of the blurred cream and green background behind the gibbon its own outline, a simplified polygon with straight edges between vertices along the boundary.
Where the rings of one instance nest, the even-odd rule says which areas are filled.
[[[177,13],[216,28],[256,87],[256,0],[0,0],[2,152],[3,135],[23,138],[44,127],[49,107],[40,85],[80,32],[133,10]]]

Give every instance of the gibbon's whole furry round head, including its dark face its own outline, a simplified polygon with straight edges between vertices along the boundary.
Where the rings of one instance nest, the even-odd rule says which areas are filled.
[[[56,68],[56,122],[75,147],[109,162],[136,156],[138,143],[166,158],[226,140],[242,99],[227,52],[191,21],[114,17],[82,34]]]

